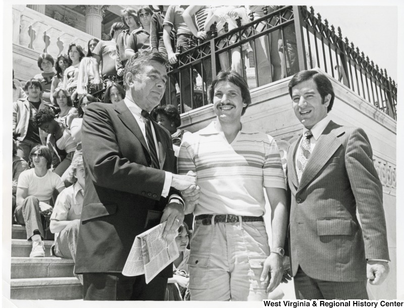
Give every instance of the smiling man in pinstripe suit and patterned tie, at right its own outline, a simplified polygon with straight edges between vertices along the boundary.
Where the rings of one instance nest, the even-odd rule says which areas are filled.
[[[287,155],[296,298],[367,299],[367,279],[380,284],[389,272],[382,185],[369,139],[327,116],[334,91],[324,74],[301,71],[288,87],[304,125]]]

